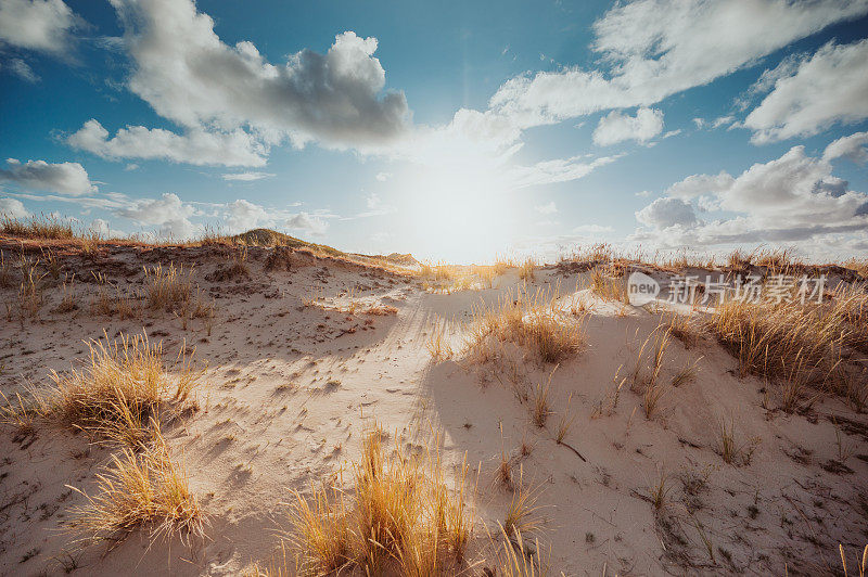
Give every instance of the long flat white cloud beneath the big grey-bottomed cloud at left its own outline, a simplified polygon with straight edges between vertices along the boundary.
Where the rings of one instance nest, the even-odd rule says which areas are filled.
[[[193,165],[265,166],[267,149],[242,129],[232,131],[190,128],[176,134],[162,128],[128,126],[108,138],[103,126],[90,119],[66,141],[104,158],[162,158]]]

